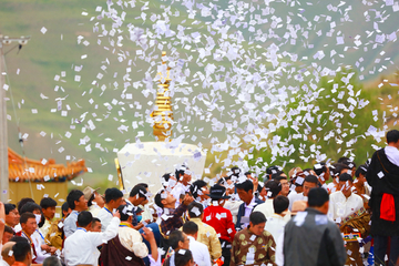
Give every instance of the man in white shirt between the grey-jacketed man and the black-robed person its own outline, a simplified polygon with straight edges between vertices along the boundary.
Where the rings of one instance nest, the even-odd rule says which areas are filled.
[[[361,196],[351,192],[352,177],[344,173],[339,175],[339,191],[330,194],[328,217],[337,223],[359,211],[364,206]]]

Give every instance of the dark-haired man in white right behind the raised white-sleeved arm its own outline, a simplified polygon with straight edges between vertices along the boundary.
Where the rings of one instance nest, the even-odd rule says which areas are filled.
[[[105,205],[98,214],[98,218],[101,221],[101,231],[105,232],[106,226],[111,223],[113,217],[113,211],[117,208],[123,198],[123,193],[116,187],[106,188],[105,191]]]

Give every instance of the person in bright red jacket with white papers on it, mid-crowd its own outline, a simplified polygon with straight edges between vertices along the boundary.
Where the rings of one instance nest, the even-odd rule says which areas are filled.
[[[229,196],[226,195],[226,187],[221,185],[212,186],[209,192],[207,195],[212,200],[212,205],[204,209],[203,222],[215,228],[222,245],[224,265],[229,265],[232,243],[236,234],[232,213],[223,207]]]

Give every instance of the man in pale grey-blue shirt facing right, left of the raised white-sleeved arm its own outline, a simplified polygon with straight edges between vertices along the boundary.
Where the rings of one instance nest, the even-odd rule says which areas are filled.
[[[66,202],[72,212],[63,222],[63,231],[65,237],[69,237],[76,231],[76,221],[80,212],[88,209],[88,201],[84,198],[83,192],[72,190],[66,196]]]

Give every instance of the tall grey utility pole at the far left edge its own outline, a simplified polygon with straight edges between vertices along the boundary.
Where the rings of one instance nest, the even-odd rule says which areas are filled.
[[[7,106],[4,90],[4,54],[2,34],[0,33],[0,200],[7,203],[9,200],[9,173],[8,173],[8,139],[7,139]]]

